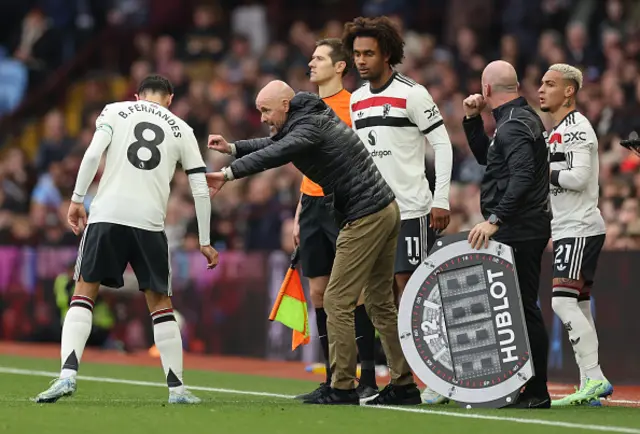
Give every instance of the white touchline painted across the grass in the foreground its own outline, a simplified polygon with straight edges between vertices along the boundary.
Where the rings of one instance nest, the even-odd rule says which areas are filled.
[[[0,373],[15,374],[15,375],[31,375],[31,376],[38,376],[38,377],[52,377],[52,378],[55,378],[58,376],[57,372],[34,371],[29,369],[16,369],[16,368],[4,367],[4,366],[0,366]],[[157,383],[157,382],[151,382],[151,381],[124,380],[120,378],[90,377],[86,375],[78,375],[78,380],[95,381],[100,383],[127,384],[132,386],[167,387],[165,383]],[[187,386],[187,388],[190,390],[200,390],[205,392],[217,392],[217,393],[232,393],[235,395],[263,396],[263,397],[270,397],[270,398],[285,398],[285,399],[293,398],[292,395],[281,395],[278,393],[268,393],[268,392],[253,392],[253,391],[246,391],[246,390],[221,389],[216,387]],[[555,427],[562,427],[562,428],[580,429],[585,431],[604,431],[604,432],[616,432],[616,433],[626,433],[626,434],[640,434],[640,429],[619,427],[619,426],[586,425],[586,424],[560,422],[560,421],[544,420],[544,419],[524,419],[524,418],[518,418],[518,417],[491,416],[491,415],[478,414],[478,413],[461,413],[461,412],[452,412],[452,411],[444,411],[444,410],[426,410],[426,409],[408,408],[408,407],[388,407],[388,406],[363,406],[363,407],[393,410],[393,411],[404,411],[407,413],[421,413],[421,414],[430,414],[430,415],[437,415],[437,416],[457,417],[457,418],[464,418],[464,419],[492,420],[492,421],[498,421],[498,422],[512,422],[512,423],[522,423],[522,424],[529,424],[529,425],[546,425],[546,426],[555,426]]]

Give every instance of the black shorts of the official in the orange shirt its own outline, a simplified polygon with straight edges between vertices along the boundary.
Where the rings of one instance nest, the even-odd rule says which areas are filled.
[[[340,228],[323,196],[302,195],[300,210],[300,265],[305,277],[331,275]]]

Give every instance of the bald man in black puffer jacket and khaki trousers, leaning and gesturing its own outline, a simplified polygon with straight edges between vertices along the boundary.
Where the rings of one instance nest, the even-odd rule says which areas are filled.
[[[273,81],[256,98],[271,137],[227,143],[209,137],[209,148],[239,157],[221,172],[207,174],[213,194],[225,182],[292,162],[333,198],[341,226],[331,277],[324,295],[331,389],[307,403],[359,404],[353,312],[365,288],[365,306],[379,331],[391,371],[391,385],[376,404],[418,404],[420,392],[398,338],[393,300],[393,268],[400,212],[387,185],[357,134],[316,95],[295,94]]]

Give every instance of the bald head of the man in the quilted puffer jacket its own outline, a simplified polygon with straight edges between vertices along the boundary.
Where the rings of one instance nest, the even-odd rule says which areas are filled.
[[[267,83],[256,97],[256,108],[261,113],[260,120],[269,126],[271,136],[274,136],[287,120],[289,103],[295,92],[284,81],[273,80]]]

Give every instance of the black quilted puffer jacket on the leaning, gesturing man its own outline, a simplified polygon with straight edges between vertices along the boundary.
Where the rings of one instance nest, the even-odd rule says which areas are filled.
[[[340,226],[395,200],[358,135],[312,93],[301,92],[291,100],[278,134],[235,145],[237,159],[230,165],[235,178],[292,162],[322,187]]]

